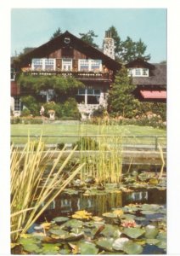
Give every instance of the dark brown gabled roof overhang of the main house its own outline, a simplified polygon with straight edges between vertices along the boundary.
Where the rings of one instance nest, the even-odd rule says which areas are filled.
[[[121,68],[121,64],[109,56],[104,55],[100,50],[93,48],[93,46],[85,43],[80,38],[76,38],[73,34],[66,31],[59,35],[57,38],[53,38],[46,44],[42,44],[31,52],[21,56],[22,65],[28,65],[32,58],[42,58],[48,56],[53,51],[65,47],[65,38],[70,38],[69,47],[74,48],[87,55],[91,59],[100,59],[104,62],[104,65],[111,69],[118,70]]]

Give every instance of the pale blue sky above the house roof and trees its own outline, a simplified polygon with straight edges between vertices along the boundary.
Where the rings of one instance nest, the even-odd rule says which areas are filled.
[[[48,42],[58,27],[77,37],[93,30],[98,35],[94,42],[101,47],[110,26],[121,40],[141,38],[150,62],[166,60],[166,9],[12,9],[11,55]]]

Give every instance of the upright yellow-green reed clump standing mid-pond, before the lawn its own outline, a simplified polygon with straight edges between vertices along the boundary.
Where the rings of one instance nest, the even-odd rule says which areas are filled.
[[[86,127],[85,127],[86,128]],[[82,125],[82,135],[85,134]],[[81,160],[86,165],[81,170],[81,179],[91,176],[97,183],[121,183],[122,137],[116,136],[116,125],[107,122],[98,125],[98,137],[82,137],[80,143]],[[113,132],[114,130],[114,132]],[[107,137],[107,133],[115,134]],[[83,151],[87,150],[87,154]]]

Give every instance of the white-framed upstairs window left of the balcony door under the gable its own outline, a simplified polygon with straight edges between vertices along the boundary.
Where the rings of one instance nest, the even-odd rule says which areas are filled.
[[[55,59],[32,59],[31,69],[34,71],[53,71],[55,70]]]

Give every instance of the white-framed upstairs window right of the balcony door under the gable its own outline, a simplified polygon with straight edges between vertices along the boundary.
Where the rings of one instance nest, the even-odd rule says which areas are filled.
[[[92,60],[92,59],[80,59],[78,61],[78,70],[84,72],[101,72],[102,71],[102,61]]]

